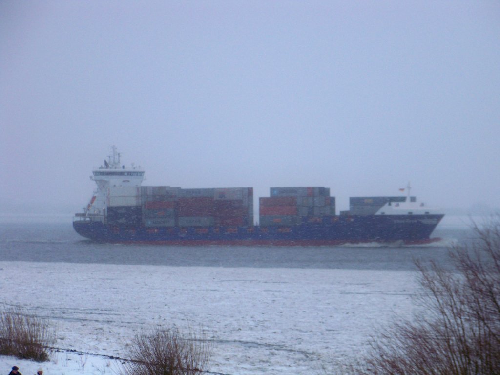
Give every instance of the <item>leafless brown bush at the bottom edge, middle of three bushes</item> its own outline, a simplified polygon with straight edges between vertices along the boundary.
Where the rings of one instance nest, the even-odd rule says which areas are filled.
[[[191,328],[187,337],[178,328],[152,328],[137,334],[128,346],[129,361],[121,375],[199,375],[206,370],[211,351],[211,345]]]

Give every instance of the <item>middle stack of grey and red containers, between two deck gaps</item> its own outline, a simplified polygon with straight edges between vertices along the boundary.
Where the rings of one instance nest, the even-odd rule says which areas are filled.
[[[269,195],[259,198],[261,226],[297,225],[335,215],[335,198],[326,187],[271,187]]]

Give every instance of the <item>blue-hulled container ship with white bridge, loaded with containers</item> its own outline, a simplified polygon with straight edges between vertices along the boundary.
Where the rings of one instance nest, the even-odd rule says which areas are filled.
[[[252,187],[141,186],[144,171],[111,155],[92,171],[97,187],[73,227],[98,242],[165,245],[318,246],[345,243],[418,244],[439,240],[444,216],[410,196],[349,198],[336,214],[327,187],[270,187],[259,197],[254,224]]]

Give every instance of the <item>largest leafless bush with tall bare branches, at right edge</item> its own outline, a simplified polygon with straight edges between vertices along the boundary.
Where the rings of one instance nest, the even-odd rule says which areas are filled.
[[[381,332],[366,357],[338,372],[500,374],[500,216],[473,228],[473,244],[450,249],[454,269],[417,262],[424,315]]]

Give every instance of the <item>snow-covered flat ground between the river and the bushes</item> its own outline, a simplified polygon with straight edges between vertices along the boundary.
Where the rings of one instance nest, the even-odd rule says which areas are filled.
[[[31,375],[116,374],[141,328],[189,323],[212,341],[209,370],[328,373],[359,356],[374,329],[415,311],[413,271],[0,262],[0,303],[57,328],[50,361],[0,357]],[[198,331],[199,331],[198,329]],[[70,351],[75,350],[75,351]]]

